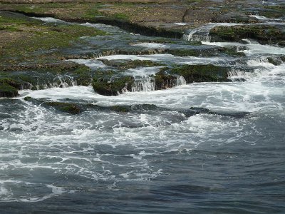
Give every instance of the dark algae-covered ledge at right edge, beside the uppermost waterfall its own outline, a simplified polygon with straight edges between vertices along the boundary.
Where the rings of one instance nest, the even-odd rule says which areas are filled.
[[[215,41],[255,39],[261,44],[277,44],[285,40],[284,30],[268,25],[216,26],[209,32]]]

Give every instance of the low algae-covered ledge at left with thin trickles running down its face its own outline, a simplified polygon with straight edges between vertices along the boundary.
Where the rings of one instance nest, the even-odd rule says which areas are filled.
[[[1,72],[0,81],[4,79],[6,83],[18,90],[38,90],[74,84],[88,86],[92,81],[90,68],[73,62],[11,66],[10,68],[15,70]]]

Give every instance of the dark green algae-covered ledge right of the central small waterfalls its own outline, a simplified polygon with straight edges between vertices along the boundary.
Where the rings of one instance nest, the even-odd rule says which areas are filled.
[[[229,68],[214,65],[184,65],[171,68],[168,73],[183,76],[187,83],[228,80]]]

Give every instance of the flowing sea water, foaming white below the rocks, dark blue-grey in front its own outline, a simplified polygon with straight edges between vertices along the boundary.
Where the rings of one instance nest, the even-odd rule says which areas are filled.
[[[249,40],[204,44],[237,46],[246,56],[74,61],[90,68],[108,67],[102,58],[214,63],[231,66],[234,81],[178,77],[174,88],[154,91],[150,75],[160,67],[140,67],[126,69],[140,81],[120,96],[67,84],[0,99],[0,213],[284,213],[285,64],[267,58],[285,49]],[[25,96],[105,108],[73,116]],[[132,111],[110,111],[115,105]],[[190,107],[215,113],[190,114]]]

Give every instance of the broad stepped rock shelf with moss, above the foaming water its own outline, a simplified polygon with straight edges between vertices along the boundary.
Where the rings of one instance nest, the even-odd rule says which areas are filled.
[[[18,96],[17,91],[21,89],[38,90],[56,86],[88,86],[91,83],[95,91],[100,94],[108,96],[118,95],[122,93],[122,90],[132,91],[134,83],[138,86],[137,82],[140,81],[135,81],[135,76],[127,77],[124,71],[127,68],[143,66],[165,67],[160,68],[163,71],[157,71],[149,76],[148,83],[152,85],[153,90],[177,86],[177,79],[180,76],[185,78],[185,83],[229,81],[227,78],[229,74],[223,73],[225,66],[221,64],[211,65],[208,62],[209,66],[204,66],[204,63],[201,65],[197,62],[196,65],[184,66],[182,75],[180,75],[181,71],[174,73],[174,71],[180,69],[175,68],[175,66],[180,66],[180,62],[183,61],[182,57],[190,56],[211,57],[224,55],[242,58],[244,53],[239,51],[237,47],[205,46],[197,41],[197,37],[194,39],[194,36],[191,36],[191,38],[184,36],[184,38],[194,39],[195,41],[157,37],[182,38],[183,32],[187,32],[187,28],[204,24],[203,21],[229,21],[230,17],[230,21],[236,21],[239,24],[244,23],[244,25],[237,26],[219,26],[217,24],[212,27],[212,29],[206,32],[215,41],[257,39],[257,41],[263,44],[274,43],[280,46],[284,44],[284,28],[280,27],[280,18],[283,15],[281,11],[284,9],[282,6],[263,6],[251,12],[252,14],[267,13],[269,15],[270,11],[272,13],[274,11],[274,20],[279,21],[279,23],[277,22],[272,26],[262,24],[258,16],[249,15],[247,11],[247,6],[249,5],[245,3],[243,3],[244,11],[242,13],[234,11],[234,6],[239,4],[238,2],[231,2],[230,6],[227,7],[227,11],[219,12],[213,11],[212,7],[217,6],[217,4],[221,7],[222,4],[212,1],[175,1],[177,6],[175,8],[172,4],[174,4],[172,1],[164,1],[163,3],[160,2],[160,4],[156,4],[154,1],[130,1],[125,4],[113,2],[108,5],[93,1],[89,3],[71,3],[68,1],[56,3],[37,1],[28,3],[26,1],[17,1],[17,4],[12,4],[11,1],[1,1],[1,9],[6,10],[1,11],[0,27],[3,32],[1,39],[7,42],[1,46],[0,96]],[[90,10],[90,5],[92,5],[92,10]],[[105,9],[106,6],[108,9]],[[171,11],[173,16],[167,16],[167,19],[161,20],[162,24],[160,26],[152,25],[153,23],[157,24],[157,21],[153,23],[146,21],[145,24],[140,24],[134,12],[143,9],[145,11],[143,17],[147,20],[145,15],[148,16],[152,8],[155,7],[157,9],[157,6],[161,8],[155,14],[158,20],[162,19],[162,14],[167,11]],[[190,11],[197,12],[204,7],[208,8],[209,17],[202,16],[199,21],[190,21],[192,17]],[[177,8],[182,11],[184,9],[185,13],[180,14]],[[66,11],[65,15],[61,13],[62,9]],[[118,14],[120,9],[124,9],[124,15],[122,13]],[[81,10],[81,13],[79,13],[79,10]],[[11,11],[16,11],[17,13]],[[52,18],[33,19],[23,14],[28,16],[53,16],[64,21]],[[219,16],[215,16],[215,19],[213,19],[213,14],[219,14]],[[180,19],[183,20],[174,18],[174,15],[175,17],[182,16]],[[241,16],[243,17],[242,19],[240,19]],[[73,23],[66,21],[72,21]],[[74,23],[86,23],[86,21],[103,24]],[[181,21],[185,24],[180,24]],[[168,24],[170,22],[172,24]],[[148,36],[129,34],[127,31],[118,29],[115,26]],[[23,38],[25,38],[25,41],[23,41]],[[200,37],[198,36],[198,38]],[[146,46],[143,46],[144,44]],[[118,61],[112,65],[110,64],[111,61],[100,59],[102,64],[97,68],[64,61],[64,59],[92,59],[98,56],[114,54],[172,54],[181,58],[178,64],[177,61],[157,62],[152,58],[148,58],[147,61],[137,59],[120,62],[125,63],[125,66],[116,65]],[[269,61],[273,62],[273,60]],[[211,66],[219,66],[219,69],[216,69],[217,67],[212,69]],[[197,68],[201,68],[201,70]],[[205,68],[208,70],[205,70]],[[166,70],[168,72],[165,72]],[[230,68],[227,68],[228,72],[230,70]],[[223,73],[222,77],[221,73]],[[191,76],[191,79],[189,76]],[[201,76],[204,77],[201,78]],[[128,79],[128,81],[120,81],[122,84],[115,86],[122,79]]]

